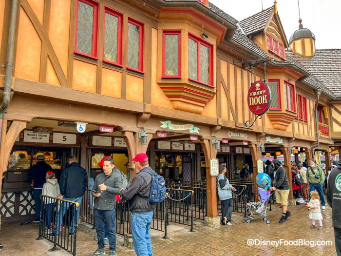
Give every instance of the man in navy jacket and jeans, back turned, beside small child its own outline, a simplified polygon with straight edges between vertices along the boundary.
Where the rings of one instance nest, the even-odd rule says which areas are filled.
[[[80,204],[82,197],[88,186],[88,175],[83,167],[78,163],[78,158],[71,156],[69,158],[69,165],[64,168],[60,176],[60,193],[63,199],[78,202],[79,207],[76,215],[76,222],[79,219]],[[70,208],[70,203],[63,202],[57,214],[57,228],[54,236],[59,234],[59,228],[66,211]],[[75,219],[72,220],[70,236],[75,233]]]

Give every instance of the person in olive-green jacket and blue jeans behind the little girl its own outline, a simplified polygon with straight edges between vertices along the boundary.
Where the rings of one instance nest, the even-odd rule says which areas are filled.
[[[316,190],[321,199],[321,209],[325,210],[325,197],[323,194],[323,183],[325,175],[321,167],[317,166],[314,159],[309,160],[309,167],[306,171],[306,179],[309,182],[309,193]],[[310,197],[309,197],[310,198]]]

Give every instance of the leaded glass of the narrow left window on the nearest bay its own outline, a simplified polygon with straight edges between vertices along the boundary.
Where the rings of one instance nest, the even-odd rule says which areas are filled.
[[[179,35],[165,35],[165,75],[179,75]]]

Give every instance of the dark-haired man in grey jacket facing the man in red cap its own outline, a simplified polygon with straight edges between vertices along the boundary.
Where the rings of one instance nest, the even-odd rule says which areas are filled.
[[[119,190],[127,185],[126,178],[121,171],[115,167],[112,158],[105,158],[103,162],[103,173],[95,178],[92,190],[95,197],[95,226],[97,232],[98,249],[92,256],[105,255],[104,233],[108,229],[109,256],[116,256],[116,195]]]

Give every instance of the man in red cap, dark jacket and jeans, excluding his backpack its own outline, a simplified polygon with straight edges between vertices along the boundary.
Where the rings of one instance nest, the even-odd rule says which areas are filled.
[[[144,171],[148,170],[152,173],[155,171],[149,166],[146,154],[137,154],[133,162],[138,173],[127,189],[120,190],[120,194],[129,200],[129,210],[132,212],[133,246],[136,255],[153,255],[150,228],[155,205],[150,204],[148,200],[152,175]]]

